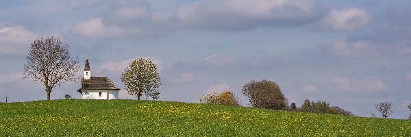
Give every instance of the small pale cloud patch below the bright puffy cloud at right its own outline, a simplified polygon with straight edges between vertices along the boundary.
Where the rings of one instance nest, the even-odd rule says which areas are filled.
[[[360,58],[367,55],[375,55],[379,52],[375,45],[369,41],[337,41],[334,42],[330,51],[334,53],[334,55],[339,55],[344,58]]]

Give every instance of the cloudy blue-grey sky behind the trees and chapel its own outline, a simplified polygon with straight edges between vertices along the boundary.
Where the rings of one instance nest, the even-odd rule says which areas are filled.
[[[326,101],[357,116],[381,117],[376,103],[408,119],[411,103],[408,0],[0,0],[0,101],[47,99],[23,79],[29,45],[60,36],[92,76],[107,76],[120,99],[136,99],[120,75],[136,58],[158,66],[160,99],[198,103],[210,90],[241,94],[252,79],[276,82],[289,103]],[[51,99],[81,80],[53,88]],[[145,97],[142,97],[145,99]],[[147,98],[149,99],[149,98]]]

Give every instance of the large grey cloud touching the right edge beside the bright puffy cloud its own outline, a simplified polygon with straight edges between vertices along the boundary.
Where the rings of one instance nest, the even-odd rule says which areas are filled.
[[[332,52],[345,57],[369,57],[371,55],[411,54],[411,10],[386,10],[388,25],[377,25],[373,31],[349,34],[343,42],[334,43]],[[356,43],[366,43],[356,46]]]

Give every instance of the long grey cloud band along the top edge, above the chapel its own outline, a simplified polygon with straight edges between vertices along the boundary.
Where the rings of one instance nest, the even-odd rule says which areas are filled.
[[[153,10],[142,0],[112,1],[104,14],[73,25],[71,32],[86,38],[144,38],[182,29],[296,26],[318,19],[321,9],[314,0],[201,0],[168,10]]]

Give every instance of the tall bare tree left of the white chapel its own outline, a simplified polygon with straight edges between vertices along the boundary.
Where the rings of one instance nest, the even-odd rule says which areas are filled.
[[[79,70],[78,58],[72,58],[69,45],[58,36],[42,36],[32,42],[23,66],[25,79],[45,85],[47,100],[51,90],[66,82],[75,82]]]

